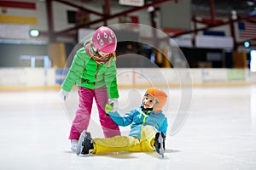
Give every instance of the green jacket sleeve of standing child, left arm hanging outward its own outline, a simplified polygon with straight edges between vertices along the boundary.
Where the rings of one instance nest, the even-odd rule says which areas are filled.
[[[61,85],[61,88],[67,92],[70,92],[73,88],[73,85],[84,71],[84,57],[85,50],[83,48],[79,49],[77,54],[73,58],[72,65],[70,66],[69,71],[67,72],[67,77],[65,78],[64,82]]]

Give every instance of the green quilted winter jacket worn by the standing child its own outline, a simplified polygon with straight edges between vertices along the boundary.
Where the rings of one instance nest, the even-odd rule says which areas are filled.
[[[106,85],[109,99],[119,98],[116,81],[116,65],[113,58],[108,63],[99,65],[87,54],[86,49],[80,48],[74,56],[72,65],[61,88],[70,92],[75,82],[79,87],[102,88]]]

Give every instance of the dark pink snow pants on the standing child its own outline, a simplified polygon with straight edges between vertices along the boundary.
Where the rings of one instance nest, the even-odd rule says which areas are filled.
[[[96,100],[105,138],[111,138],[121,134],[118,125],[105,112],[105,105],[108,103],[106,86],[96,89],[79,87],[79,108],[76,111],[68,139],[79,139],[80,133],[87,130],[90,123],[93,98]]]

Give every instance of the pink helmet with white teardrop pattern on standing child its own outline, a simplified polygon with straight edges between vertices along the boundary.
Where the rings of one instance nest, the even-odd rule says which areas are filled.
[[[116,36],[107,26],[101,26],[92,36],[93,45],[103,53],[113,53],[116,49]]]

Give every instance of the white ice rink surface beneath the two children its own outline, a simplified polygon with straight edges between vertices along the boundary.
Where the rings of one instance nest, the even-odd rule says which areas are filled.
[[[120,89],[120,110],[137,107],[144,90]],[[256,86],[192,88],[185,100],[178,88],[167,90],[168,130],[182,102],[189,102],[189,116],[167,134],[164,159],[155,152],[76,156],[67,140],[76,92],[64,104],[58,90],[1,91],[0,169],[256,169]],[[90,132],[101,136],[95,109],[92,115]]]

